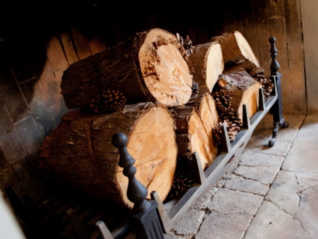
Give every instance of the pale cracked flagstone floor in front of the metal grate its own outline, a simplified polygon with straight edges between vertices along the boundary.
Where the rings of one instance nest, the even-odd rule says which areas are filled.
[[[166,239],[318,238],[318,116],[284,116],[274,147],[272,116],[235,165],[201,196]]]

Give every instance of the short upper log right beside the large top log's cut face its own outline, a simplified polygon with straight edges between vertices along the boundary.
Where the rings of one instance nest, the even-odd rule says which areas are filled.
[[[221,46],[218,42],[209,42],[191,49],[193,80],[199,84],[199,94],[211,93],[224,69]]]

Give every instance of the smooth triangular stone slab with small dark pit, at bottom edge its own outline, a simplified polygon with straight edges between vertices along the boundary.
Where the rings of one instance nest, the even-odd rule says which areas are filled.
[[[244,239],[310,239],[299,222],[274,204],[264,201]]]

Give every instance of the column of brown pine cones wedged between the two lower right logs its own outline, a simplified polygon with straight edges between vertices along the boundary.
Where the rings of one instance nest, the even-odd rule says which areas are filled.
[[[226,126],[230,141],[234,141],[236,135],[242,126],[242,121],[239,119],[239,113],[231,108],[232,93],[220,89],[212,94],[216,103],[217,111],[220,120],[213,128],[213,134],[219,144],[222,144],[222,127]]]

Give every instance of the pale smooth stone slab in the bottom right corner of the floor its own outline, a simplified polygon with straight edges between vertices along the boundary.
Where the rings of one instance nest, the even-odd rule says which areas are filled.
[[[299,220],[303,228],[312,239],[318,235],[318,185],[304,190],[301,194],[299,210],[295,218]]]

